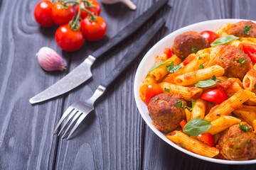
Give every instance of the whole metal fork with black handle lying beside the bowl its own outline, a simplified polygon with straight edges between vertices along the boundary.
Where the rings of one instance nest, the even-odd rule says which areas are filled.
[[[135,42],[134,46],[132,47],[132,50],[129,50],[129,52],[127,52],[127,54],[123,57],[123,59],[119,62],[119,64],[117,64],[117,67],[115,67],[112,70],[112,72],[110,72],[110,74],[106,77],[106,79],[102,82],[102,84],[97,87],[95,93],[92,95],[91,98],[89,98],[85,102],[77,101],[73,103],[71,106],[69,106],[68,109],[65,111],[65,113],[63,113],[63,116],[60,118],[54,130],[54,133],[57,132],[58,128],[60,127],[60,124],[63,123],[63,120],[65,120],[65,118],[68,117],[67,120],[65,120],[63,127],[60,129],[60,132],[58,132],[58,136],[59,136],[60,133],[63,132],[64,128],[70,122],[70,124],[68,125],[68,128],[66,128],[65,132],[63,133],[62,138],[64,138],[68,130],[73,125],[73,123],[75,123],[75,121],[77,120],[73,129],[68,135],[67,140],[69,140],[70,136],[73,134],[76,128],[78,128],[78,125],[80,125],[82,120],[84,120],[85,117],[91,111],[94,110],[94,103],[97,100],[97,98],[102,96],[102,94],[105,93],[106,89],[114,83],[117,77],[119,77],[119,75],[122,74],[124,70],[127,69],[127,67],[129,67],[129,65],[138,58],[139,54],[144,50],[146,45],[150,42],[151,39],[154,38],[154,35],[157,32],[159,32],[162,26],[164,26],[164,23],[165,21],[163,18],[158,19],[158,21],[156,21],[156,23],[154,23],[154,25],[151,26],[151,28],[149,28],[149,30],[147,30],[146,33],[142,35],[142,37]]]

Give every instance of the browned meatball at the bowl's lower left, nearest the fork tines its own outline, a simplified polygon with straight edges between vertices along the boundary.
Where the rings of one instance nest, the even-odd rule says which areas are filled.
[[[176,107],[178,101],[186,106],[186,101],[172,94],[159,94],[151,98],[148,105],[149,115],[159,131],[171,132],[186,118],[184,109]]]

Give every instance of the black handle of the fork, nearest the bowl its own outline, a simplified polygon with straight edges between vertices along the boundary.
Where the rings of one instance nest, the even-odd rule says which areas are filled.
[[[149,30],[146,31],[142,37],[135,42],[132,46],[132,49],[124,55],[123,59],[117,64],[112,72],[106,77],[106,79],[102,82],[102,86],[106,89],[112,85],[112,83],[119,77],[120,74],[124,72],[129,65],[134,62],[134,60],[139,58],[140,53],[144,50],[146,45],[154,38],[154,35],[159,32],[160,28],[164,26],[164,19],[160,18],[156,23],[154,23]]]

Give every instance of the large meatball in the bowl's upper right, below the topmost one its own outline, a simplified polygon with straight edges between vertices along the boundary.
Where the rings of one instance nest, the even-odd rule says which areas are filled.
[[[232,45],[222,45],[222,50],[216,58],[215,64],[225,69],[226,76],[241,80],[252,68],[250,57],[245,55],[238,47]]]

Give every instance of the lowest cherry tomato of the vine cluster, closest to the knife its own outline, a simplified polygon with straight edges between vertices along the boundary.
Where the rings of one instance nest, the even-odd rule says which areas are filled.
[[[72,30],[68,24],[60,26],[55,33],[55,40],[60,48],[71,52],[82,47],[84,38],[80,30]]]

